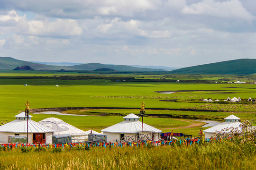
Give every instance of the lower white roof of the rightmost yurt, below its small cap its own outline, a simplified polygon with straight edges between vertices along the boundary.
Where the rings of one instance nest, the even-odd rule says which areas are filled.
[[[219,125],[216,125],[214,127],[210,127],[208,129],[205,129],[203,130],[204,132],[208,132],[208,133],[214,133],[216,131],[221,131],[222,129],[225,129],[225,128],[230,128],[230,127],[238,127],[238,131],[241,131],[241,125],[242,123],[241,122],[223,122],[223,123],[220,123]]]

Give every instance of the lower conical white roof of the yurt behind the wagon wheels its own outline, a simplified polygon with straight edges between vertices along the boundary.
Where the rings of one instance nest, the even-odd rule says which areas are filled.
[[[141,121],[122,121],[113,126],[104,128],[101,130],[102,132],[110,132],[110,133],[139,133],[142,132],[142,122]],[[155,127],[149,126],[146,123],[143,123],[143,132],[151,132],[151,133],[161,133],[162,130],[159,130]]]

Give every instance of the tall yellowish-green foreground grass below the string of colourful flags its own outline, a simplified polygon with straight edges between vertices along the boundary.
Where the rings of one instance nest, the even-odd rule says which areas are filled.
[[[33,149],[34,150],[34,149]],[[18,159],[17,159],[18,158]],[[159,147],[65,148],[60,153],[21,153],[20,148],[0,151],[5,170],[255,170],[256,148],[230,142]]]

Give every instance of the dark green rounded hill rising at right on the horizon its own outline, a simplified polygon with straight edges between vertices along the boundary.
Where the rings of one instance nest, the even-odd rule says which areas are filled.
[[[256,59],[235,59],[172,70],[175,74],[242,74],[256,73]]]

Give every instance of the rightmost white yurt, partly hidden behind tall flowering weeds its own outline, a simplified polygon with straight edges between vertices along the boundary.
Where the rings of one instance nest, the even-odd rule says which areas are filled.
[[[213,135],[214,132],[216,132],[216,131],[219,132],[222,129],[230,128],[230,127],[238,127],[238,131],[241,132],[240,125],[242,123],[238,121],[239,119],[240,118],[238,118],[238,117],[236,117],[234,115],[228,116],[227,118],[225,118],[225,122],[220,123],[219,125],[216,125],[214,127],[210,127],[208,129],[205,129],[203,131],[204,135],[205,135],[205,138],[210,138],[210,136]]]

